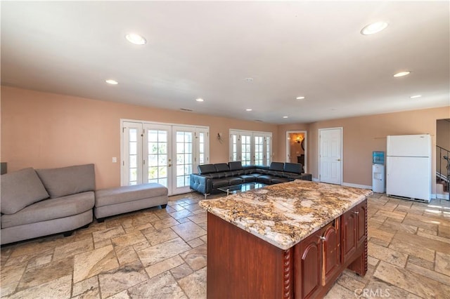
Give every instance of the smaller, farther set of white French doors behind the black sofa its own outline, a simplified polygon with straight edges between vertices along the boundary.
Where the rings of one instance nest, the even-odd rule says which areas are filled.
[[[230,130],[230,161],[246,165],[270,165],[272,134]]]

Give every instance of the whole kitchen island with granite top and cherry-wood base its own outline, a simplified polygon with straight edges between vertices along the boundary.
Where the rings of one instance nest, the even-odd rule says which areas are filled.
[[[207,210],[207,298],[317,298],[345,269],[367,271],[371,190],[295,180]]]

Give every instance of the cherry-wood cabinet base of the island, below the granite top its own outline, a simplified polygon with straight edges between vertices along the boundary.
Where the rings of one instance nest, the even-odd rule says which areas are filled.
[[[207,298],[321,298],[345,268],[367,271],[367,201],[283,250],[207,215]]]

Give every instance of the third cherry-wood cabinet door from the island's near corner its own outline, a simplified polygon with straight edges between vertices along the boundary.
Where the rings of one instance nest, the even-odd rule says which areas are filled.
[[[341,217],[342,264],[356,251],[356,214],[354,208]]]

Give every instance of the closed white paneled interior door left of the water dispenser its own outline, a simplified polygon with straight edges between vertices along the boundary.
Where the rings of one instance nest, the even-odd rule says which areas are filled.
[[[319,181],[342,185],[342,128],[319,129]]]

